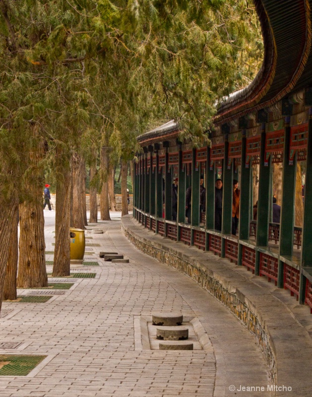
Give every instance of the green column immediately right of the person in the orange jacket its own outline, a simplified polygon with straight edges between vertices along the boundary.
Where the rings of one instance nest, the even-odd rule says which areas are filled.
[[[249,239],[250,224],[250,166],[246,168],[246,130],[243,131],[242,138],[242,168],[241,168],[241,196],[240,196],[240,222],[239,222],[239,240]],[[243,247],[238,247],[238,265],[242,265]]]

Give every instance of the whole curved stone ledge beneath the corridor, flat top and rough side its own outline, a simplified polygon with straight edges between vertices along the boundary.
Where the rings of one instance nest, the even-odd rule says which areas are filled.
[[[297,396],[311,396],[312,341],[283,302],[229,261],[154,234],[131,215],[122,217],[121,227],[138,250],[194,279],[248,328],[263,351],[273,383],[280,388],[273,395],[289,397],[289,391],[282,389],[290,387]]]

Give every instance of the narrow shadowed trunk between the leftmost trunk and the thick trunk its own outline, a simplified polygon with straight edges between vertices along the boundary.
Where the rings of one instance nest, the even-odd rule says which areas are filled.
[[[9,237],[10,246],[8,249],[8,259],[5,272],[4,288],[2,299],[14,300],[17,299],[16,293],[16,275],[17,275],[17,262],[18,262],[18,203],[16,201],[13,206],[12,215],[12,230],[11,236]]]

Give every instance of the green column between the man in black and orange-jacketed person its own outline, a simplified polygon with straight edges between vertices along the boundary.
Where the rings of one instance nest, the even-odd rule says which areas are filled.
[[[222,233],[232,232],[232,201],[233,201],[233,164],[228,169],[229,142],[226,137],[224,144],[223,165],[223,203],[222,203]]]

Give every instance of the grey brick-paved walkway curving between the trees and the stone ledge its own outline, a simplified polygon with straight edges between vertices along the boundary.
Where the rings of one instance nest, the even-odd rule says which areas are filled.
[[[45,212],[45,217],[46,251],[53,251],[53,214]],[[118,218],[94,227],[106,232],[86,233],[92,237],[87,243],[100,246],[88,247],[92,251],[85,261],[100,266],[73,272],[95,272],[95,278],[75,279],[74,287],[47,303],[2,304],[0,342],[23,345],[22,350],[0,349],[0,354],[48,359],[34,375],[0,377],[0,397],[235,396],[231,385],[262,386],[264,392],[244,396],[271,396],[262,353],[226,308],[186,275],[134,249]],[[130,263],[104,262],[98,253],[108,250],[124,254]],[[137,350],[134,318],[161,311],[198,318],[212,350]]]

